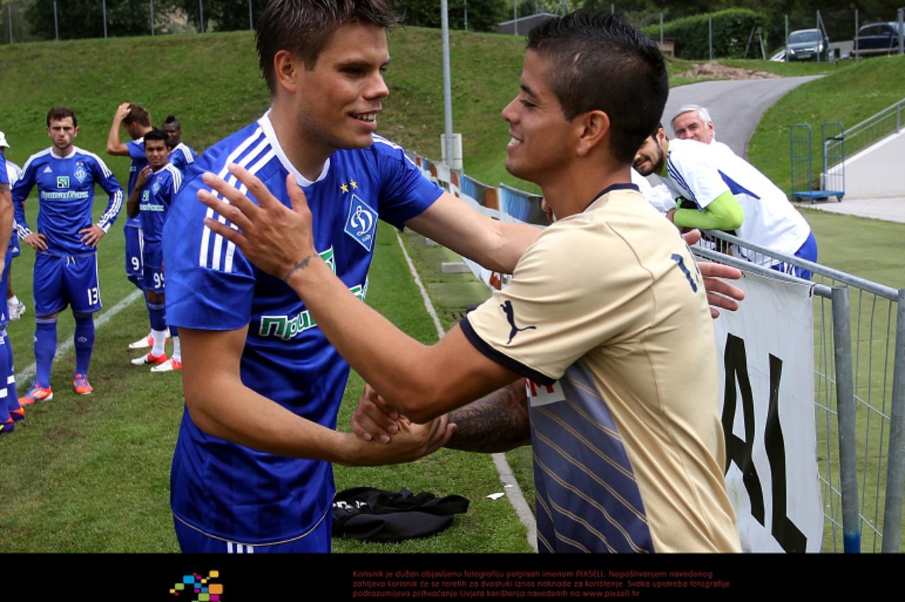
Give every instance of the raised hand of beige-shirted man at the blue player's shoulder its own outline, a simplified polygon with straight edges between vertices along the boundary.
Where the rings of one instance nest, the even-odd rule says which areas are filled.
[[[258,268],[288,280],[296,269],[308,265],[310,259],[317,256],[305,193],[296,183],[295,176],[290,174],[286,178],[290,209],[243,167],[231,164],[229,171],[245,184],[258,204],[223,178],[206,173],[202,176],[204,182],[223,198],[200,190],[198,200],[222,215],[223,220],[208,217],[205,218],[205,226],[233,242]]]

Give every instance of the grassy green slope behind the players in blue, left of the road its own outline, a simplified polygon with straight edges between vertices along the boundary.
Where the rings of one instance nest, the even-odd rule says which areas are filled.
[[[500,110],[517,90],[523,48],[519,38],[452,33],[454,127],[462,132],[468,172],[488,183],[529,186],[506,174],[501,161],[509,136]],[[379,133],[439,157],[440,33],[399,30],[390,36],[390,54],[390,97]],[[258,118],[269,104],[250,32],[6,45],[0,47],[0,72],[0,129],[12,145],[8,158],[20,165],[49,146],[44,119],[51,106],[73,108],[81,127],[76,144],[103,155],[120,102],[145,106],[155,123],[176,115],[184,140],[199,150]],[[129,168],[125,158],[109,164],[123,176]]]

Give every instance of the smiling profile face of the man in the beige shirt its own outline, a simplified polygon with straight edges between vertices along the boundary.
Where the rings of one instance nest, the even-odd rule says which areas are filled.
[[[548,66],[538,52],[526,52],[519,95],[502,112],[511,136],[506,170],[538,184],[556,174],[572,155],[571,122],[548,86]]]

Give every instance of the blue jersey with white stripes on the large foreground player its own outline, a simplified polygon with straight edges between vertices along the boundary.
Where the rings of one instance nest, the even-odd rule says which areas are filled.
[[[167,322],[203,330],[247,326],[243,383],[335,428],[348,364],[290,287],[205,228],[205,215],[213,212],[197,201],[205,186],[200,176],[213,172],[236,183],[226,171],[230,163],[257,175],[287,206],[286,176],[295,174],[313,214],[320,256],[360,298],[367,291],[377,218],[401,228],[442,191],[402,148],[378,136],[366,149],[335,152],[310,182],[292,167],[264,115],[201,155],[173,205],[164,229]],[[330,520],[324,516],[334,489],[328,462],[273,456],[212,437],[184,412],[170,479],[176,520],[230,541],[289,541]]]

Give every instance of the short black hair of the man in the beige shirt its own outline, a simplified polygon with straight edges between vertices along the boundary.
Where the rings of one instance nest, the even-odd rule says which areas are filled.
[[[547,59],[548,84],[566,119],[604,111],[614,157],[631,163],[669,93],[656,44],[618,15],[578,11],[532,29],[528,50]]]

